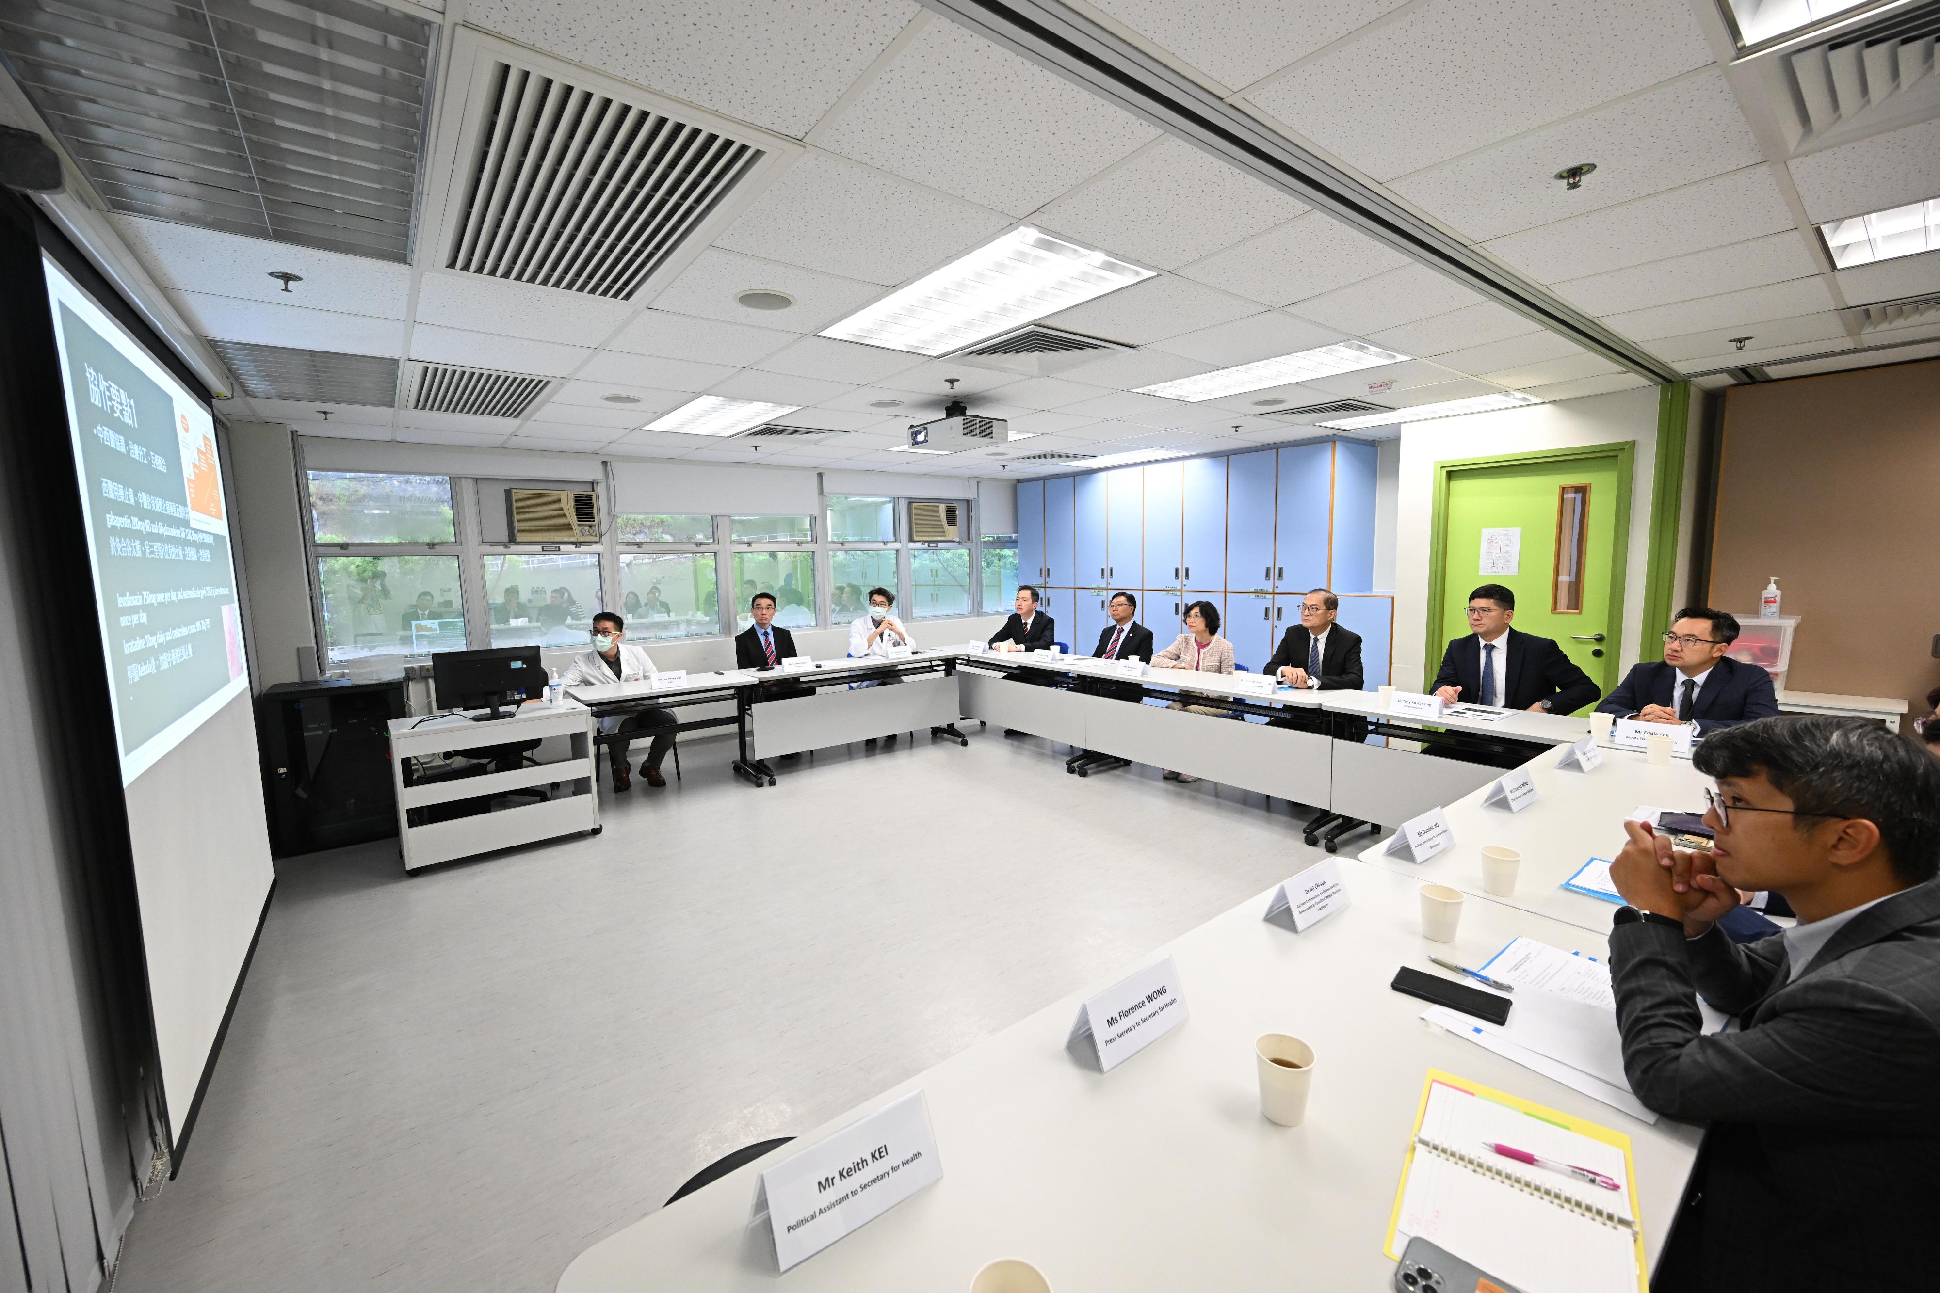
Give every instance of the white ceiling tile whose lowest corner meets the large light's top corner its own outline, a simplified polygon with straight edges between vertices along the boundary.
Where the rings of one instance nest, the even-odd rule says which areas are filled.
[[[817,142],[1022,217],[1154,138],[1129,112],[931,19]]]

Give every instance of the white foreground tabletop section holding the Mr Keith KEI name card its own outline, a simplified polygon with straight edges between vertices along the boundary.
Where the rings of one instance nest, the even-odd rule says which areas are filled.
[[[1003,1256],[1061,1293],[1265,1289],[1379,1293],[1395,1188],[1430,1068],[1618,1128],[1632,1138],[1651,1262],[1698,1150],[1699,1128],[1655,1126],[1424,1024],[1424,1002],[1387,985],[1438,952],[1486,960],[1523,934],[1604,956],[1602,936],[1494,901],[1467,901],[1453,946],[1420,936],[1420,878],[1341,861],[1352,905],[1302,934],[1249,898],[1135,963],[1170,954],[1187,1022],[1110,1074],[1081,1064],[1065,996],[780,1151],[582,1252],[561,1293],[772,1289],[749,1229],[757,1171],[923,1089],[943,1179],[790,1270],[784,1287],[966,1289]],[[1253,1039],[1288,1031],[1317,1053],[1304,1126],[1259,1113]]]

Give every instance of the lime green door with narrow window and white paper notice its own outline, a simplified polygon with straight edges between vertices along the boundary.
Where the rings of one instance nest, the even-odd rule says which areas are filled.
[[[1622,454],[1443,463],[1443,646],[1482,583],[1515,593],[1515,628],[1554,638],[1608,694],[1618,682],[1630,463]],[[1439,661],[1436,647],[1434,661]],[[1432,667],[1432,665],[1430,665]]]

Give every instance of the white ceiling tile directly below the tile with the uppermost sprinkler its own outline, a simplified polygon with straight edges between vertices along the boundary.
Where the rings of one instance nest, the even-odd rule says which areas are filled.
[[[1562,283],[1785,229],[1796,229],[1793,211],[1760,165],[1484,246],[1538,283]]]

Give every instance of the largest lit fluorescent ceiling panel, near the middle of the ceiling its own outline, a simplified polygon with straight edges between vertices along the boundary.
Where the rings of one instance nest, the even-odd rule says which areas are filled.
[[[1038,229],[1015,229],[824,328],[821,335],[916,355],[949,355],[1148,277],[1150,269],[1104,252]]]

